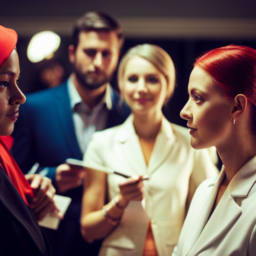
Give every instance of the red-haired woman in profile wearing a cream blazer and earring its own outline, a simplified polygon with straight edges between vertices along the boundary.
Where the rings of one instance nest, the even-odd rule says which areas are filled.
[[[181,117],[192,147],[215,146],[220,174],[197,188],[173,255],[256,255],[256,50],[199,57]]]

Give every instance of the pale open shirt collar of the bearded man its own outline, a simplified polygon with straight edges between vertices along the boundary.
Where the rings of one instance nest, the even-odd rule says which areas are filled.
[[[111,85],[107,83],[104,96],[94,108],[98,108],[99,105],[103,104],[106,104],[106,108],[108,110],[112,108],[111,90]],[[69,76],[67,79],[67,91],[70,97],[70,108],[73,109],[75,104],[82,102],[82,98],[76,90],[71,76]]]

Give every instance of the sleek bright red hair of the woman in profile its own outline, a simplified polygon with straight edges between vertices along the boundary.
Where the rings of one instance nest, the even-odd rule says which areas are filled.
[[[228,45],[204,53],[194,63],[224,90],[226,98],[241,93],[256,105],[256,50]]]

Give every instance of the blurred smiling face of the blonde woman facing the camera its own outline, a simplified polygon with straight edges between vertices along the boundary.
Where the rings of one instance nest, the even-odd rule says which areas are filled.
[[[133,113],[161,111],[166,91],[167,81],[152,63],[138,56],[127,61],[121,92]]]

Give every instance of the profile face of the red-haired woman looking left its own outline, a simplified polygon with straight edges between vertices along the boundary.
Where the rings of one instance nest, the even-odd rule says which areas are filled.
[[[231,101],[203,69],[195,66],[188,83],[189,99],[180,112],[190,128],[191,146],[207,148],[221,146],[230,139]]]

